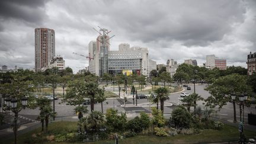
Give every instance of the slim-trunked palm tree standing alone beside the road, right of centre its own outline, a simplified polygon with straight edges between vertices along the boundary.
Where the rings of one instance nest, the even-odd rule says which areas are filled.
[[[164,101],[169,100],[169,97],[168,97],[169,91],[165,87],[159,87],[155,89],[155,93],[160,100],[161,111],[162,113],[164,113]]]

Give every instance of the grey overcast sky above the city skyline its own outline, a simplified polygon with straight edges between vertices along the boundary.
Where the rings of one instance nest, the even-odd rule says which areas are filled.
[[[34,68],[34,28],[55,30],[56,55],[74,71],[88,66],[88,43],[97,26],[111,30],[110,50],[120,43],[148,47],[159,63],[206,55],[246,67],[256,52],[256,1],[201,0],[1,0],[0,66]]]

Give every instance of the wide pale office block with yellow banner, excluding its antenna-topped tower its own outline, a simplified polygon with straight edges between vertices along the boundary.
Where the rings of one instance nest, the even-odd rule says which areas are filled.
[[[107,50],[107,49],[105,49]],[[109,50],[107,53],[107,73],[137,73],[138,75],[149,75],[156,69],[156,62],[149,59],[148,48],[146,47],[129,47],[129,44],[119,44],[119,50]],[[89,62],[89,72],[101,76],[101,59],[104,53],[97,52],[95,59]]]

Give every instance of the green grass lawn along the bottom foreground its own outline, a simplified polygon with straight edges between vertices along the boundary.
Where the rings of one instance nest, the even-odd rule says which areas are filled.
[[[49,125],[50,133],[72,132],[76,130],[76,122],[56,122]],[[40,128],[18,136],[18,143],[24,143],[33,133],[40,132]],[[245,130],[245,136],[254,137],[256,132]],[[197,135],[177,135],[171,137],[158,137],[153,135],[138,135],[126,139],[119,139],[120,143],[213,143],[213,142],[236,142],[239,139],[238,127],[224,125],[223,130],[202,130]],[[0,140],[1,142],[1,140]],[[11,143],[11,140],[2,143]],[[55,143],[55,142],[46,142]],[[57,142],[56,142],[57,143]],[[81,142],[82,143],[82,142]],[[101,140],[91,143],[114,143],[114,140]]]

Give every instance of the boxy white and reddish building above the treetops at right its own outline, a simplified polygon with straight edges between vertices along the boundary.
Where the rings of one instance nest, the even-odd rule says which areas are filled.
[[[213,69],[219,68],[221,70],[226,69],[226,59],[215,57],[215,55],[206,56],[206,68]]]

